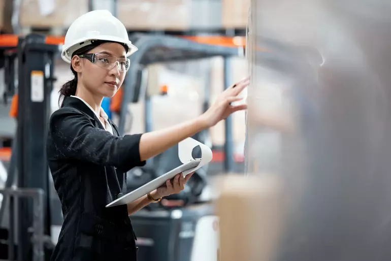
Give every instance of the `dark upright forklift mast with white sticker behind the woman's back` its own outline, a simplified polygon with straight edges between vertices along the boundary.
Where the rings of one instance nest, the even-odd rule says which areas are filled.
[[[18,126],[12,157],[16,158],[17,188],[8,186],[0,190],[4,199],[10,199],[8,259],[17,257],[23,261],[43,261],[44,245],[49,242],[51,224],[46,137],[54,81],[54,57],[58,53],[58,45],[47,44],[45,36],[30,34],[17,39],[16,50]],[[12,77],[8,79],[10,82],[13,82]],[[15,172],[9,173],[8,179],[13,181],[14,175]],[[5,208],[5,204],[2,204],[2,208]],[[17,233],[14,231],[15,221]],[[14,252],[15,242],[17,253]]]

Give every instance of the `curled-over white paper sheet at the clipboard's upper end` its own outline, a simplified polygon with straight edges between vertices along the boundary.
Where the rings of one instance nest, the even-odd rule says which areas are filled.
[[[205,166],[212,160],[212,150],[206,146],[205,144],[196,141],[192,138],[187,138],[181,142],[178,143],[178,156],[179,160],[185,164],[189,160],[194,159],[192,156],[193,149],[197,146],[200,146],[201,148],[201,162],[200,165],[198,165],[196,168],[193,168],[191,170],[183,172],[183,175],[187,175],[191,172],[194,172],[201,167]]]

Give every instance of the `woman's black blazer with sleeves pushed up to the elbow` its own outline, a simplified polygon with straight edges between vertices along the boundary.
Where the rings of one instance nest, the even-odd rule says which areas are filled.
[[[126,206],[105,206],[126,193],[126,172],[145,165],[141,134],[119,137],[109,122],[114,135],[75,97],[50,117],[47,157],[64,216],[53,261],[136,260]]]

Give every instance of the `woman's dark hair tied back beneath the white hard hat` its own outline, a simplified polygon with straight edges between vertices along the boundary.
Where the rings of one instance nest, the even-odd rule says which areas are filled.
[[[109,41],[101,41],[101,40],[92,41],[90,45],[84,46],[84,47],[80,48],[79,50],[76,50],[72,54],[72,57],[75,56],[75,55],[81,55],[81,54],[88,53],[90,50],[92,50],[96,46],[101,45],[101,44],[106,43],[106,42],[109,42]],[[83,43],[81,43],[81,44],[83,44]],[[119,44],[121,44],[125,48],[126,52],[128,51],[127,45],[122,44],[122,43],[119,43]],[[58,97],[58,104],[60,103],[61,98],[62,98],[62,102],[61,102],[60,108],[62,108],[64,106],[64,98],[65,97],[68,97],[68,96],[76,94],[77,72],[73,69],[72,63],[71,63],[71,71],[72,71],[72,73],[74,75],[74,78],[71,81],[69,81],[69,82],[65,83],[64,85],[62,85],[60,90],[59,90],[60,96]]]

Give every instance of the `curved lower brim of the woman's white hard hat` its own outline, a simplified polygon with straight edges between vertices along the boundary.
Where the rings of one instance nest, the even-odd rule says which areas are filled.
[[[89,45],[89,43],[93,40],[117,42],[117,43],[122,43],[122,44],[126,45],[129,48],[126,53],[126,57],[131,56],[132,54],[134,54],[138,50],[138,48],[135,45],[133,45],[130,40],[123,41],[123,38],[114,37],[114,36],[94,36],[93,38],[85,37],[83,39],[79,39],[78,41],[75,41],[74,43],[72,43],[70,45],[62,46],[61,58],[64,61],[71,63],[72,54],[75,51],[77,51],[78,49],[80,49],[86,45]]]

